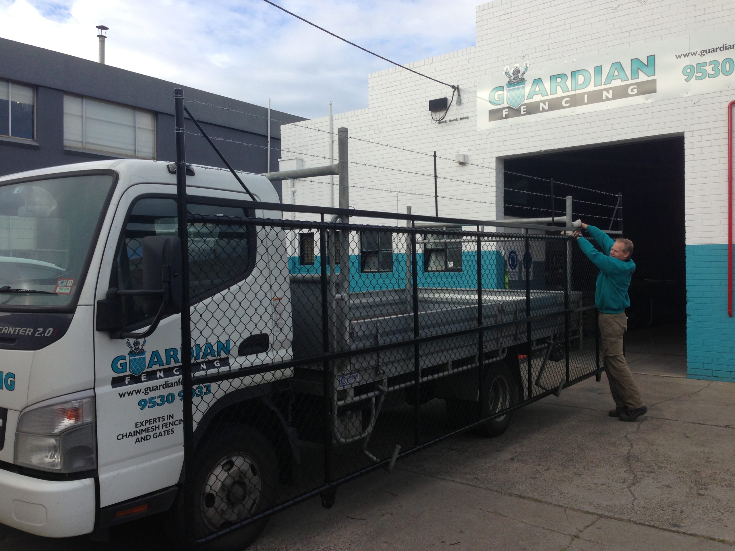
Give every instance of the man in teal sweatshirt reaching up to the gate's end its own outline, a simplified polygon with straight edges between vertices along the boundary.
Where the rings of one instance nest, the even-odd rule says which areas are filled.
[[[574,237],[582,252],[600,268],[595,284],[595,304],[600,311],[600,340],[605,364],[607,380],[610,383],[615,408],[609,411],[610,417],[618,417],[621,421],[635,421],[645,414],[648,408],[641,399],[640,392],[628,363],[623,355],[623,334],[628,329],[628,317],[625,309],[631,306],[628,298],[628,287],[636,264],[631,259],[633,242],[631,240],[612,240],[595,226],[580,222],[589,235],[603,250],[600,253],[589,241],[584,239],[581,231],[575,231]]]

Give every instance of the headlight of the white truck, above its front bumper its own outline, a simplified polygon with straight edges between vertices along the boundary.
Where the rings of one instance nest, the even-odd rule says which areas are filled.
[[[97,467],[93,392],[60,397],[18,418],[15,464],[51,472]]]

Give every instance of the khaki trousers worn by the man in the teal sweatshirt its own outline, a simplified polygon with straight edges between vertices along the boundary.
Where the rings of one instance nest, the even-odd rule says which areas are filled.
[[[625,312],[600,312],[599,325],[605,372],[615,405],[626,406],[628,409],[642,408],[645,404],[623,355],[623,334],[628,329],[628,317]]]

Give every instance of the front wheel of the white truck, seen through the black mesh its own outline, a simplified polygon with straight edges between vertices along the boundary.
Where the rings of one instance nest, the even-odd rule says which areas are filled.
[[[193,536],[196,539],[265,511],[276,501],[278,458],[254,428],[241,425],[218,431],[196,450],[194,460]],[[173,511],[176,539],[183,540],[183,494]],[[178,513],[178,514],[176,514]],[[268,517],[204,545],[207,551],[242,550],[260,535]],[[182,541],[183,543],[183,541]]]

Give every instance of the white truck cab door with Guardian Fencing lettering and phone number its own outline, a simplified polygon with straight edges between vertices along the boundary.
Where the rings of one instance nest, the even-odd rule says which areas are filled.
[[[176,201],[171,186],[140,184],[121,198],[100,270],[97,298],[110,288],[142,289],[142,242],[148,236],[176,236]],[[241,195],[190,191],[190,212],[202,215],[253,215],[237,206]],[[257,231],[238,226],[226,234],[217,226],[190,229],[190,296],[193,310],[218,311],[223,295],[231,309],[227,315],[198,318],[193,331],[193,364],[226,367],[242,363],[237,347],[250,334],[270,332],[272,314],[258,305],[272,298],[267,259],[256,254]],[[224,274],[224,275],[223,275]],[[232,293],[243,293],[242,306]],[[245,296],[251,300],[245,301]],[[196,306],[198,305],[198,306]],[[249,305],[249,306],[248,306]],[[233,311],[232,308],[242,311]],[[121,302],[125,331],[140,333],[151,323],[143,298],[125,296]],[[265,328],[265,331],[264,331]],[[96,395],[100,505],[147,494],[179,481],[183,459],[181,317],[165,317],[156,331],[143,338],[114,338],[96,331]],[[257,355],[256,355],[257,356]],[[256,356],[248,360],[257,360]],[[216,389],[202,389],[201,394]],[[196,400],[201,396],[195,397]],[[210,397],[211,398],[211,397]],[[211,403],[211,400],[208,401]]]

